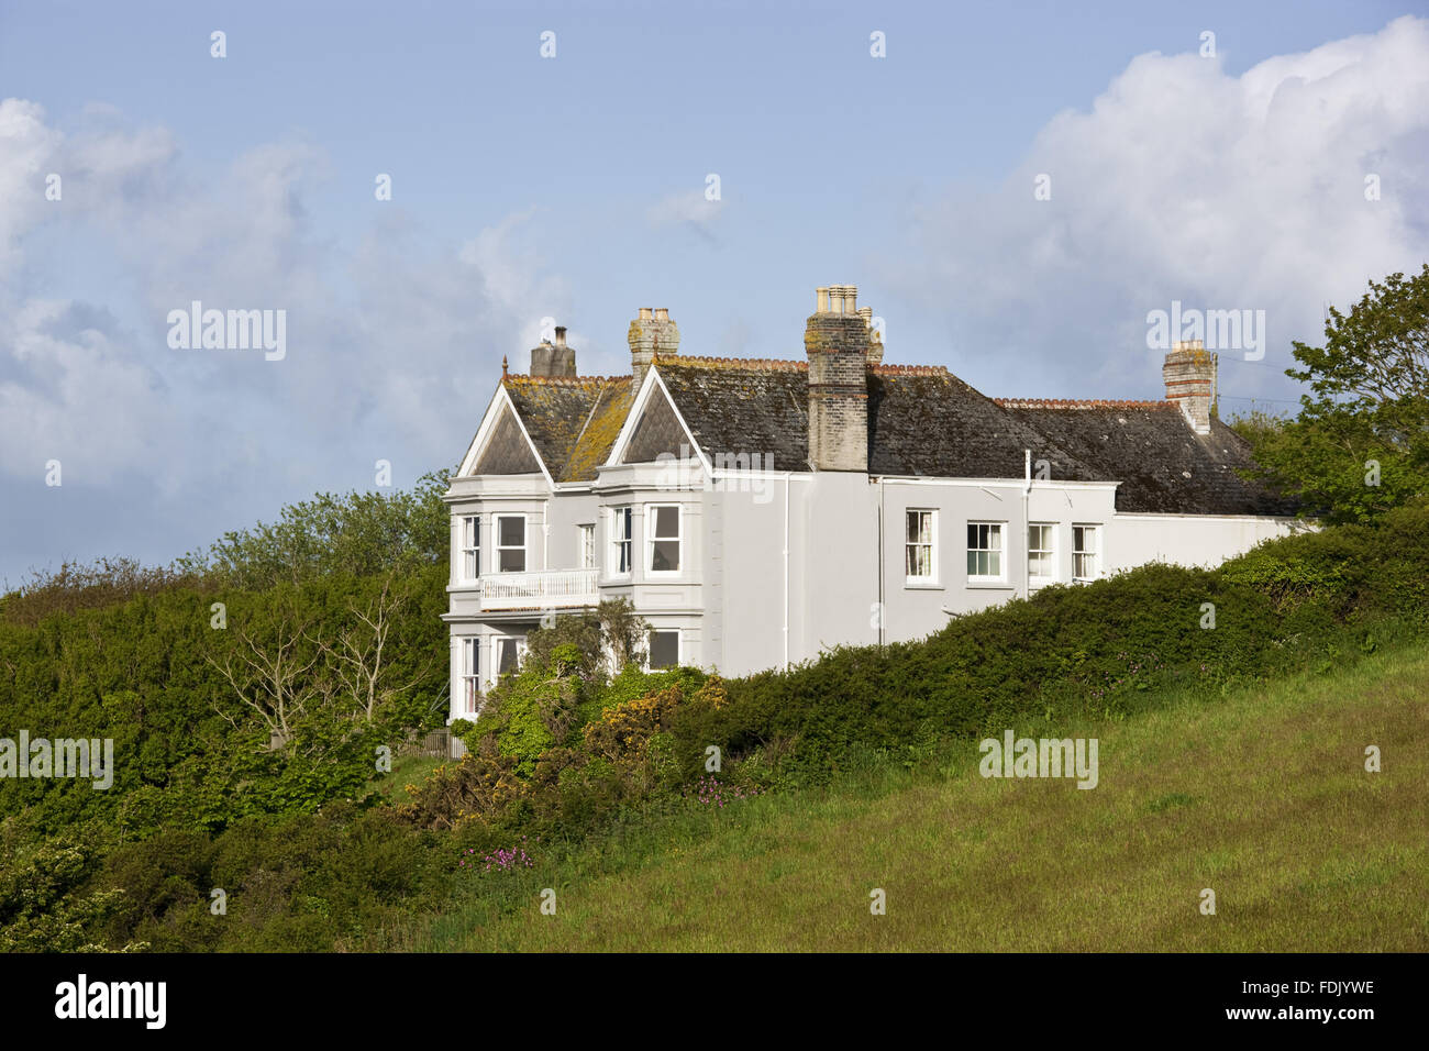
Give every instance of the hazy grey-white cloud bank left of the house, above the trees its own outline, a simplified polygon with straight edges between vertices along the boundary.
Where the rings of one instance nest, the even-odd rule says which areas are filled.
[[[44,200],[51,170],[59,203]],[[49,506],[44,462],[60,459],[73,506],[137,519],[79,551],[9,519],[0,573],[167,558],[317,489],[367,488],[374,459],[402,485],[460,453],[512,333],[534,333],[564,289],[517,250],[522,216],[463,245],[373,202],[369,233],[344,246],[304,204],[327,177],[319,150],[284,142],[199,180],[167,132],[111,107],[61,134],[39,106],[0,102],[0,478]],[[84,276],[104,302],[67,259],[99,269]],[[170,349],[167,313],[191,300],[286,310],[287,357]],[[140,488],[164,508],[136,503]]]

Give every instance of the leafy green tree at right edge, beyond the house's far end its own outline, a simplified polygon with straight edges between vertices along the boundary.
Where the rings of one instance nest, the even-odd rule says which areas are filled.
[[[1330,307],[1325,345],[1295,343],[1309,383],[1296,419],[1253,412],[1235,422],[1258,480],[1302,513],[1369,522],[1429,493],[1429,263],[1370,282],[1350,312]]]

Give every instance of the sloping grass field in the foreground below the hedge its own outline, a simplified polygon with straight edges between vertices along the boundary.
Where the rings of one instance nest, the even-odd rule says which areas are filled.
[[[1033,728],[1019,728],[1019,735]],[[1429,655],[1398,651],[1096,736],[1100,784],[873,764],[823,791],[690,804],[473,875],[390,948],[1429,949]],[[1383,769],[1365,769],[1378,745]],[[453,861],[454,864],[454,861]],[[540,912],[542,888],[556,914]],[[886,892],[872,915],[870,891]],[[1216,914],[1200,912],[1200,892]]]

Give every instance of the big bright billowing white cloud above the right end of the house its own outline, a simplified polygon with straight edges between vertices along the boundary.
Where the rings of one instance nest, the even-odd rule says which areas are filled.
[[[1173,299],[1266,310],[1266,365],[1223,355],[1222,388],[1280,393],[1289,342],[1320,336],[1325,303],[1429,259],[1426,173],[1426,20],[1239,77],[1218,59],[1143,54],[1087,112],[1055,117],[1003,186],[913,212],[883,269],[946,312],[952,367],[979,357],[966,370],[1005,393],[1150,393],[1146,313]],[[1035,199],[1039,174],[1050,200]]]

